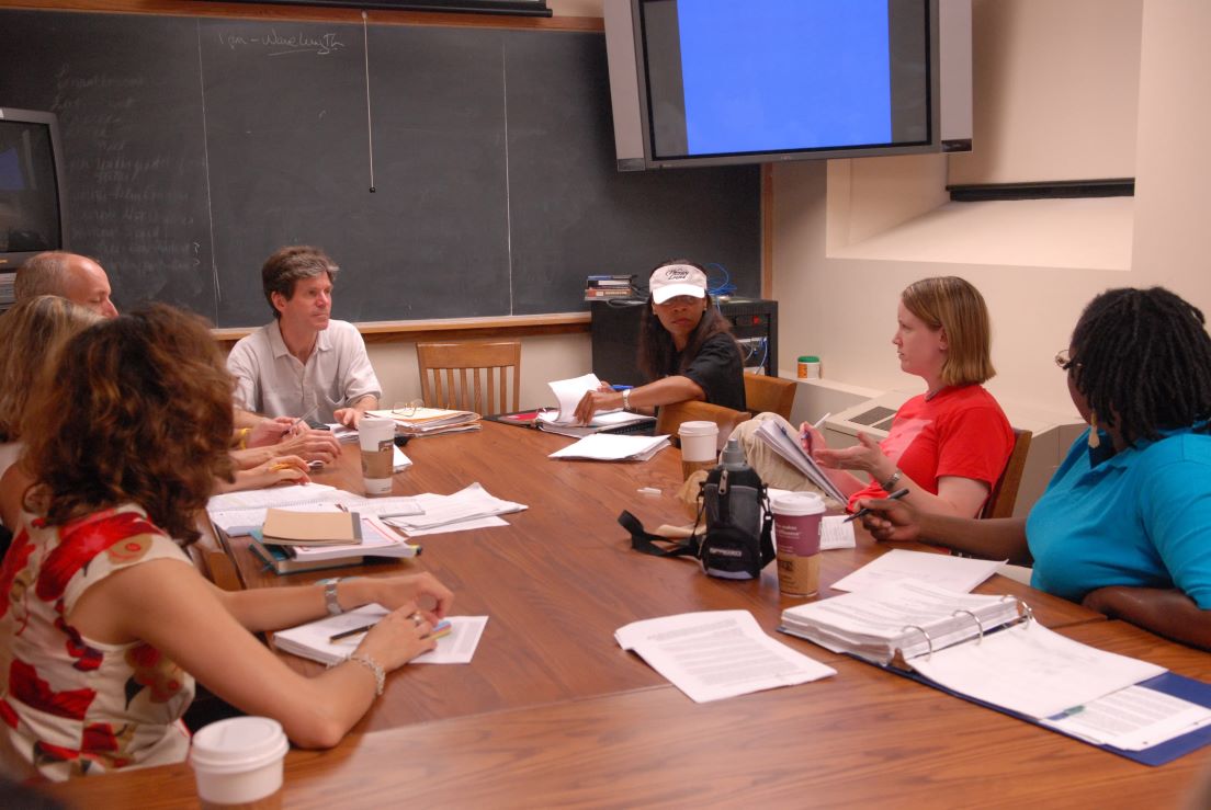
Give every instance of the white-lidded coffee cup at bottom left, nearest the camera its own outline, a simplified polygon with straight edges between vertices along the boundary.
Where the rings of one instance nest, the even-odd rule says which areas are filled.
[[[202,806],[280,806],[282,759],[289,747],[281,724],[268,717],[233,717],[199,730],[189,764]]]

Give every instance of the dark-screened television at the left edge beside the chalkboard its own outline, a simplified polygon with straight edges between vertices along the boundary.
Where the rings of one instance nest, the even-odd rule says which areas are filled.
[[[0,272],[67,247],[59,143],[53,113],[0,107]]]

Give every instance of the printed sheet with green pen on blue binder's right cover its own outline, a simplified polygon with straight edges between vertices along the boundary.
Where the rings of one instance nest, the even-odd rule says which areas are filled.
[[[1127,687],[1043,725],[1123,751],[1143,751],[1211,724],[1211,710],[1147,687]]]

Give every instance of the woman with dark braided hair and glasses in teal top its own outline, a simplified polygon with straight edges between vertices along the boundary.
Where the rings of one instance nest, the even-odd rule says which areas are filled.
[[[965,521],[865,501],[879,540],[1034,563],[1032,584],[1211,649],[1211,335],[1160,287],[1112,289],[1056,356],[1090,427],[1028,518]]]

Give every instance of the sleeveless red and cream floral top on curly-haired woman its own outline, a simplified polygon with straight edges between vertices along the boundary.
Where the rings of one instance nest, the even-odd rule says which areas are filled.
[[[185,758],[180,717],[194,679],[148,644],[91,642],[65,620],[88,586],[162,558],[189,564],[134,505],[59,527],[31,521],[13,538],[0,568],[0,765],[10,777]]]

